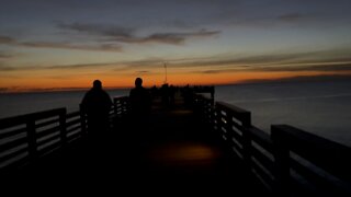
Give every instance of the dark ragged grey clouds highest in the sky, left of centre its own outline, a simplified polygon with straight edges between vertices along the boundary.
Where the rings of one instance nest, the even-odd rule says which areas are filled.
[[[13,37],[0,35],[0,45],[12,45],[33,48],[79,49],[101,51],[123,51],[123,44],[170,44],[180,45],[192,38],[205,38],[220,34],[220,31],[199,30],[193,32],[152,33],[146,36],[136,36],[135,30],[116,25],[58,23],[60,30],[79,33],[81,36],[93,36],[93,44],[76,44],[73,42],[21,42]]]

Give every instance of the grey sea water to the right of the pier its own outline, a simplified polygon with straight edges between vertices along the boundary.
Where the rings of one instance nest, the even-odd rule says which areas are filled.
[[[351,147],[351,80],[216,86],[215,100],[250,111],[267,132],[286,124]]]

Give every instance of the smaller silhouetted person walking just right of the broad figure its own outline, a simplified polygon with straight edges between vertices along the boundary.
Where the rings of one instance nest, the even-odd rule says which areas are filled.
[[[146,118],[150,111],[151,97],[149,92],[143,86],[143,79],[135,79],[135,88],[129,92],[129,101],[132,107],[132,115],[136,120]]]

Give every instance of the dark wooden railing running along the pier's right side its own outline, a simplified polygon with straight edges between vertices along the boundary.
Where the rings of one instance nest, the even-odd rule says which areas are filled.
[[[196,112],[245,166],[279,196],[351,194],[351,149],[288,125],[271,135],[251,125],[248,111],[193,94]]]

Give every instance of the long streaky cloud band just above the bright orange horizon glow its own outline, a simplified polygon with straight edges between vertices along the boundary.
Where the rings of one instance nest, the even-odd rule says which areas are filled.
[[[42,67],[4,67],[1,71],[13,70],[69,70],[101,68],[111,71],[151,70],[167,62],[173,69],[186,69],[197,73],[225,73],[240,71],[351,71],[351,54],[349,48],[333,50],[317,50],[309,53],[257,55],[247,57],[213,57],[213,58],[183,58],[163,59],[151,58],[131,61],[114,61],[104,63],[79,63],[79,65],[46,65]],[[337,54],[337,56],[335,55]],[[191,71],[192,70],[192,71]]]

